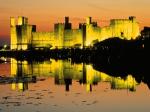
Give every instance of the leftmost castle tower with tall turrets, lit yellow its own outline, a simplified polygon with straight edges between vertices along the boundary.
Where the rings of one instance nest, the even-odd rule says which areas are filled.
[[[18,17],[18,24],[14,17],[10,19],[10,36],[11,49],[27,50],[31,44],[32,32],[36,30],[36,26],[28,25],[28,19],[25,17]]]

